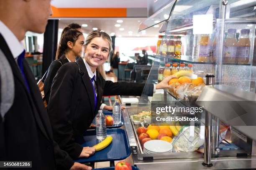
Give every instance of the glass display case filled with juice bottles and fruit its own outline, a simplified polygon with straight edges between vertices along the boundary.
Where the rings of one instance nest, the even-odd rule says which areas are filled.
[[[256,92],[255,2],[176,0],[172,1],[172,8],[169,5],[170,16],[162,32],[164,34],[159,33],[157,54],[138,107],[127,110],[133,122],[139,160],[204,158],[205,131],[209,126],[207,110],[195,101],[208,83],[207,74],[215,75],[213,84]],[[148,27],[148,21],[146,23]],[[184,72],[175,74],[180,70]],[[192,79],[189,72],[193,72],[197,78]],[[176,75],[178,79],[169,82],[169,89],[156,90],[153,96],[149,96],[147,86],[152,83],[156,85],[168,75]],[[168,110],[169,106],[184,110],[173,114],[174,111]],[[159,110],[164,108],[160,114],[166,119],[156,121],[156,117],[159,117],[157,107]],[[202,109],[202,112],[193,111],[192,108]],[[187,121],[167,119],[174,115],[188,118]],[[250,136],[218,120],[218,117],[212,117],[212,134],[216,133],[214,128],[218,126],[218,138],[215,136],[218,148],[212,144],[213,155],[252,155],[253,140]],[[161,141],[171,145],[165,146]]]

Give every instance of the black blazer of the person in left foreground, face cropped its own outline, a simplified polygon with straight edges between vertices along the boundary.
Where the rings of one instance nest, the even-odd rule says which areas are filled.
[[[32,161],[31,170],[69,170],[74,161],[53,141],[49,117],[28,62],[24,60],[23,70],[31,92],[1,34],[0,49],[10,64],[15,83],[13,105],[5,120],[0,119],[0,160]]]

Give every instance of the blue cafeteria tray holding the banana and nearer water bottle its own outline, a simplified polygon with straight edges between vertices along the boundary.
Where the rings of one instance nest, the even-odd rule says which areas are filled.
[[[76,160],[79,163],[104,162],[113,160],[123,160],[131,155],[130,145],[125,130],[120,128],[107,129],[107,135],[113,137],[112,142],[103,150],[95,152],[89,158]],[[83,147],[92,147],[99,143],[96,139],[96,130],[87,130],[83,138],[77,140]]]

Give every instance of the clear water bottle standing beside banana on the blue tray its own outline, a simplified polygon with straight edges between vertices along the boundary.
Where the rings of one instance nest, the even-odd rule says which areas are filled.
[[[106,118],[102,110],[98,111],[96,115],[96,138],[97,140],[104,140],[107,137]]]

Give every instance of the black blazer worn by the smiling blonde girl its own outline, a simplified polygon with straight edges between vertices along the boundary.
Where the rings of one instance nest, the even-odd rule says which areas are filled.
[[[73,159],[82,152],[82,146],[76,143],[89,128],[103,95],[140,96],[145,84],[106,81],[97,72],[97,105],[94,110],[94,92],[90,77],[82,58],[76,63],[63,65],[54,77],[48,105],[48,114],[54,132],[54,140],[60,148],[67,151]],[[153,84],[145,87],[153,95]],[[91,146],[90,146],[91,147]]]

